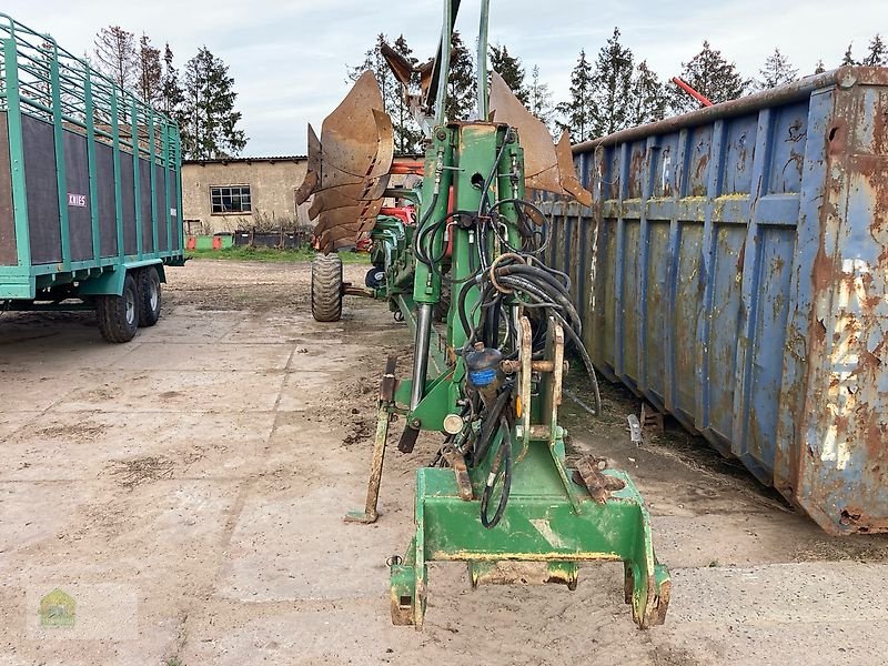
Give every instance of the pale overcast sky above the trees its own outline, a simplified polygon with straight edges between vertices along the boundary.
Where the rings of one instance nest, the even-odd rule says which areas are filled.
[[[432,56],[440,0],[7,0],[3,12],[49,32],[74,53],[92,50],[95,32],[119,24],[155,43],[170,42],[182,69],[201,46],[234,77],[245,155],[302,154],[305,124],[320,128],[347,91],[346,65],[363,60],[377,33],[403,33],[414,54]],[[463,1],[457,28],[477,33],[477,2]],[[618,26],[636,60],[667,80],[704,39],[747,77],[775,47],[804,73],[823,58],[837,65],[849,42],[862,54],[872,34],[888,37],[888,0],[493,0],[491,41],[505,43],[529,71],[539,65],[556,101],[565,99],[582,48],[595,53]]]

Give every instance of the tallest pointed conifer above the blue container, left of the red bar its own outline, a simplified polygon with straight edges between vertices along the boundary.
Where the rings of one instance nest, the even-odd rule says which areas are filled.
[[[634,69],[632,51],[619,43],[619,29],[614,28],[614,34],[598,51],[592,78],[595,135],[604,137],[628,127]]]

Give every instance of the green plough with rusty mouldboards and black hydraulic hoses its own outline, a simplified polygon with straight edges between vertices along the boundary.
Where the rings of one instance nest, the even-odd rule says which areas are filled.
[[[359,80],[324,121],[320,139],[310,129],[311,170],[300,192],[315,198],[319,244],[332,250],[369,233],[374,264],[366,286],[349,286],[341,269],[339,281],[329,279],[336,274],[335,254],[319,255],[313,303],[316,295],[326,307],[346,293],[383,299],[415,335],[408,379],[396,377],[395,359],[387,362],[366,505],[347,519],[377,518],[385,444],[400,416],[402,452],[413,450],[421,431],[442,433],[444,441],[434,463],[416,474],[416,535],[404,557],[390,562],[395,624],[422,627],[432,561],[467,563],[473,586],[563,583],[571,589],[581,563],[619,561],[633,619],[643,628],[662,624],[669,573],[654,555],[640,494],[625,472],[606,468],[601,458],[568,467],[558,425],[565,346],[573,345],[595,375],[569,279],[538,259],[546,225],[527,190],[586,205],[588,192],[574,172],[567,138],[553,145],[496,73],[488,91],[486,1],[478,37],[481,120],[445,118],[458,6],[445,2],[441,47],[427,65],[387,53],[427,132],[424,162],[406,169],[422,173],[421,185],[389,189],[389,176],[404,165],[393,167],[391,122],[372,77]],[[385,209],[385,198],[407,204]]]

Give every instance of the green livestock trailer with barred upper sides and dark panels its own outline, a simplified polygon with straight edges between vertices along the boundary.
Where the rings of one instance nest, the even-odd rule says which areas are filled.
[[[128,342],[184,263],[179,128],[2,13],[0,40],[0,309],[94,309]]]

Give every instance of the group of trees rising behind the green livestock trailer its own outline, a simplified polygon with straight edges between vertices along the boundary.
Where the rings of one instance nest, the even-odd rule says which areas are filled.
[[[152,109],[173,118],[182,134],[183,158],[208,160],[236,155],[246,145],[238,128],[238,93],[228,65],[206,47],[185,63],[181,73],[167,43],[161,51],[147,34],[120,26],[95,34],[90,64],[144,100]]]

